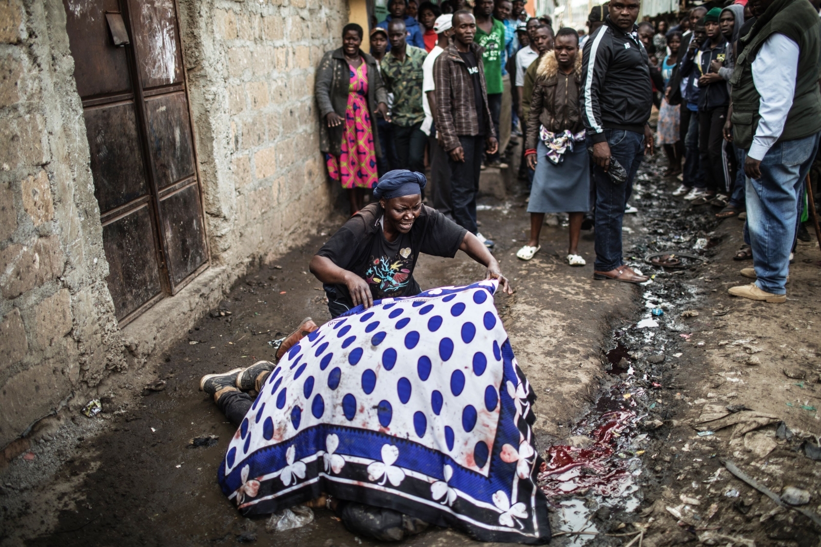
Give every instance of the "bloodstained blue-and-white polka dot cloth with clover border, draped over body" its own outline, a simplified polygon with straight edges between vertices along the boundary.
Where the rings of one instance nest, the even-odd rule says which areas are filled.
[[[493,304],[497,286],[383,299],[300,340],[228,445],[225,495],[245,515],[326,492],[483,541],[549,540],[534,396]]]

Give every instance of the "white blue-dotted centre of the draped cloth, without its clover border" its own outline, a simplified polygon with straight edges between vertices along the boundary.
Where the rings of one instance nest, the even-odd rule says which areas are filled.
[[[232,440],[234,465],[299,431],[334,424],[411,440],[487,476],[507,333],[488,289],[438,292],[383,300],[328,321],[291,348]]]

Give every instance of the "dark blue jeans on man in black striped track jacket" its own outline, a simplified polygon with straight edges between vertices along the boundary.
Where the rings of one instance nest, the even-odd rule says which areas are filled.
[[[625,130],[604,130],[610,145],[610,155],[627,171],[627,180],[617,185],[610,175],[597,166],[593,168],[596,187],[596,262],[595,271],[611,271],[621,262],[621,220],[633,191],[633,178],[644,156],[644,135]],[[588,139],[588,147],[593,143]]]

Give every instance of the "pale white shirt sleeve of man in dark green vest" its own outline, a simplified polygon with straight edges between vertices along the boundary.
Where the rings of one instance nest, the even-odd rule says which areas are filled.
[[[772,34],[753,61],[753,83],[761,96],[759,126],[748,156],[762,160],[784,130],[796,96],[798,44],[784,34]]]

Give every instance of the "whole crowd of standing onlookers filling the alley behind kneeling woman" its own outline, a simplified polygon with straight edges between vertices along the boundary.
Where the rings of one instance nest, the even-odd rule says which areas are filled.
[[[658,146],[664,175],[681,181],[673,195],[746,220],[736,258],[753,259],[742,275],[756,282],[731,294],[782,302],[814,207],[804,184],[821,130],[813,1],[708,2],[636,24],[639,0],[611,0],[585,32],[527,16],[523,0],[390,0],[369,52],[365,31],[346,25],[319,67],[328,174],[353,213],[380,175],[429,168],[429,206],[492,247],[478,231],[479,174],[507,169],[523,139],[531,234],[516,256],[533,258],[545,214],[564,212],[568,264],[585,265],[576,246],[594,227],[595,278],[640,283],[623,263],[621,221]]]

